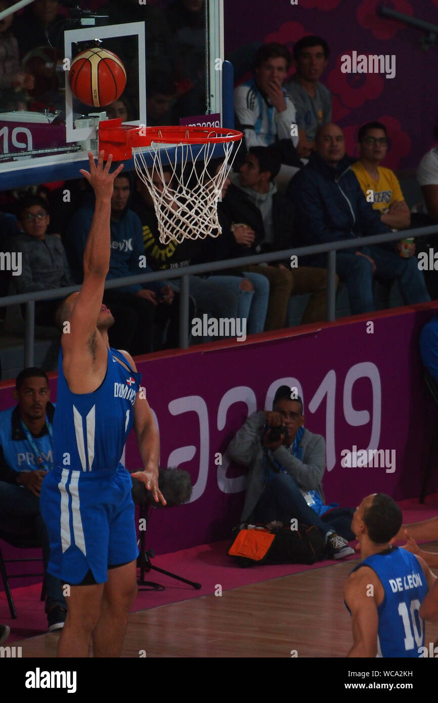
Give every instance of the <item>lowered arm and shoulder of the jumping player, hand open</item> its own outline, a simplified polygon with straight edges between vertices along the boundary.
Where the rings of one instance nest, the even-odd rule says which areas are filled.
[[[128,352],[122,352],[129,361],[131,367],[136,371],[134,359]],[[141,391],[137,393],[134,403],[134,430],[136,432],[137,445],[141,461],[143,462],[143,471],[136,471],[131,474],[131,477],[139,479],[145,484],[148,491],[152,491],[155,502],[166,505],[165,497],[158,489],[158,459],[160,458],[160,437],[158,435],[157,425],[153,414],[150,411],[146,396],[143,397]]]

